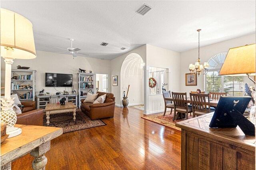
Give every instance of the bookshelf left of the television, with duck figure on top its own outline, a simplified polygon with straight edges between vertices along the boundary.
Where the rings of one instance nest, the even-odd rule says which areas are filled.
[[[12,69],[11,94],[17,94],[20,101],[35,101],[36,70]]]

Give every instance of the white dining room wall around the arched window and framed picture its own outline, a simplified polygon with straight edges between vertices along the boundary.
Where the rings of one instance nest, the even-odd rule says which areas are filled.
[[[201,63],[208,61],[211,57],[218,53],[227,52],[228,49],[232,47],[239,47],[252,43],[255,43],[255,34],[250,34],[232,40],[207,45],[205,47],[200,47]],[[201,44],[203,45],[203,42]],[[197,86],[185,85],[185,73],[190,72],[188,70],[188,66],[190,63],[195,63],[197,59],[198,49],[192,49],[190,51],[185,51],[180,54],[180,91],[186,92],[187,95],[190,93],[190,91],[196,91],[196,89],[204,91],[204,75],[200,75],[199,77],[197,77]],[[248,79],[248,77],[244,77],[244,81],[250,86],[254,85],[252,81]]]

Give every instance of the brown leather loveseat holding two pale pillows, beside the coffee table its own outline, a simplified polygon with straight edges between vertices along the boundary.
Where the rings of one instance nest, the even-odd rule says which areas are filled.
[[[98,91],[98,97],[101,95],[106,95],[106,100],[104,103],[84,103],[84,99],[81,100],[81,110],[84,112],[90,119],[103,119],[108,117],[114,117],[115,103],[116,98],[113,93],[104,93]]]

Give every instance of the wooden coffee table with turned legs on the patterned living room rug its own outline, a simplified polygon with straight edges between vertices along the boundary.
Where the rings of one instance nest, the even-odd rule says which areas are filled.
[[[68,113],[73,112],[73,120],[76,121],[76,105],[72,102],[66,102],[65,105],[60,105],[57,103],[48,103],[44,109],[46,111],[46,124],[50,124],[50,115],[57,114],[57,113]]]

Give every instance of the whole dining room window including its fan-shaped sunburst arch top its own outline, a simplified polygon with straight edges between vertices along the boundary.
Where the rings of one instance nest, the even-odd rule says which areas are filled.
[[[222,64],[226,59],[226,52],[218,53],[208,60],[209,71],[204,75],[204,91],[227,92],[229,96],[244,95],[244,77],[219,75]]]

